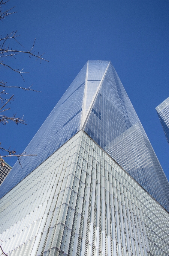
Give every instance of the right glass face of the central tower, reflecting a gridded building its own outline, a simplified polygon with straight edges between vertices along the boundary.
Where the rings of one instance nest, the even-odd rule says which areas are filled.
[[[112,64],[84,131],[169,211],[169,182]]]

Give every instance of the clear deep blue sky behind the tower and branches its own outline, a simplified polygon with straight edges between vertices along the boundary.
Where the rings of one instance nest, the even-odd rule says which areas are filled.
[[[18,12],[0,23],[1,35],[18,30],[19,42],[45,52],[49,62],[8,59],[24,75],[1,69],[8,85],[42,91],[15,94],[11,114],[27,126],[1,125],[1,145],[24,151],[88,59],[111,60],[169,180],[169,145],[155,107],[169,96],[169,1],[11,0]],[[16,159],[6,158],[11,166]]]

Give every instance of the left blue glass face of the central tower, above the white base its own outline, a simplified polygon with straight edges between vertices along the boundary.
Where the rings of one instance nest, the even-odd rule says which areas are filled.
[[[24,150],[26,154],[37,156],[22,157],[20,160],[22,168],[18,161],[15,163],[0,187],[0,198],[79,131],[86,69],[87,64],[85,64],[76,76],[75,80]]]

